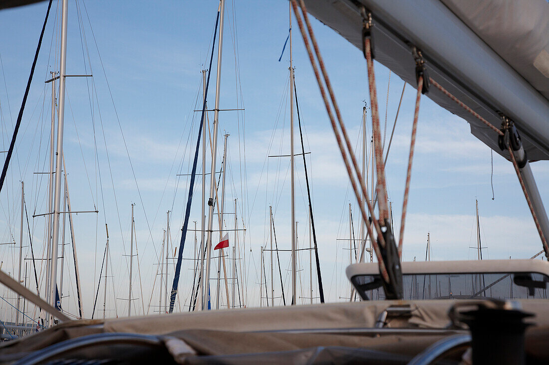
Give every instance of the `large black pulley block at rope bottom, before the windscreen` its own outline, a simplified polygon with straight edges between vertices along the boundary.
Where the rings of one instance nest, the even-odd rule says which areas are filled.
[[[385,229],[385,230],[384,230]],[[384,231],[383,231],[384,230]],[[382,225],[383,238],[385,239],[385,247],[378,245],[383,263],[389,274],[389,282],[382,280],[383,289],[385,290],[385,299],[394,300],[404,298],[404,290],[402,289],[402,271],[400,266],[399,250],[396,248],[395,236],[393,228],[388,219],[384,220]]]

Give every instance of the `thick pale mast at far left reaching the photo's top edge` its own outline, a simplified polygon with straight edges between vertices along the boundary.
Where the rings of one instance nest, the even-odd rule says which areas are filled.
[[[65,116],[65,74],[67,55],[67,16],[69,0],[63,0],[61,5],[61,61],[59,69],[59,104],[57,111],[57,155],[55,157],[55,195],[53,206],[53,232],[52,232],[52,265],[49,277],[49,299],[53,307],[55,303],[55,289],[57,288],[57,248],[59,242],[59,206],[61,204],[61,159],[63,158],[63,122]],[[50,326],[53,326],[53,315]]]

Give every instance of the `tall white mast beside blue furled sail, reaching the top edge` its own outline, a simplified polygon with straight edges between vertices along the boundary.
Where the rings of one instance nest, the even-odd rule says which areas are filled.
[[[215,88],[215,108],[214,108],[214,145],[211,156],[211,175],[210,175],[210,198],[208,199],[208,261],[206,261],[206,276],[205,288],[203,296],[203,308],[208,308],[210,297],[210,258],[211,258],[211,238],[212,228],[214,225],[214,196],[216,191],[215,186],[215,160],[217,151],[217,127],[219,127],[219,93],[221,87],[221,55],[223,50],[223,18],[225,18],[225,0],[220,1],[220,21],[219,21],[219,46],[217,47],[217,76]]]

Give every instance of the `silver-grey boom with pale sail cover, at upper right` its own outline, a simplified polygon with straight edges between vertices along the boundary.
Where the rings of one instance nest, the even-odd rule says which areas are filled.
[[[500,127],[519,130],[530,160],[549,159],[549,4],[546,0],[306,0],[307,11],[362,49],[360,6],[372,13],[376,60],[412,85],[412,45],[429,76]],[[365,66],[366,67],[366,66]],[[367,82],[365,80],[365,82]],[[438,89],[427,96],[466,119],[503,156],[497,135]]]

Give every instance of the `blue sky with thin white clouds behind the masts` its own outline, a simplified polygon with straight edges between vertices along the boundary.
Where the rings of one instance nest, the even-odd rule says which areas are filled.
[[[65,112],[64,147],[72,209],[92,210],[96,206],[100,211],[97,216],[75,216],[77,252],[85,288],[85,315],[91,316],[94,290],[97,290],[106,238],[105,223],[109,225],[112,264],[112,269],[109,269],[112,272],[108,275],[113,276],[109,279],[108,316],[115,315],[114,297],[127,297],[128,261],[122,255],[129,252],[131,203],[136,204],[143,305],[147,312],[153,283],[154,298],[159,298],[158,280],[154,282],[158,266],[155,263],[158,263],[167,210],[172,211],[172,246],[178,246],[180,240],[188,181],[187,178],[177,178],[176,174],[187,174],[191,170],[191,151],[194,150],[199,123],[199,113],[193,110],[201,107],[196,102],[201,98],[201,70],[207,67],[209,60],[218,2],[79,0],[78,8],[74,0],[69,3],[67,72],[89,73],[91,65],[93,73],[93,80],[68,79]],[[0,195],[2,242],[9,242],[12,234],[16,241],[19,239],[21,179],[25,181],[29,214],[35,210],[36,214],[44,213],[46,209],[46,180],[33,172],[47,170],[51,89],[44,81],[58,64],[58,26],[53,26],[54,19],[57,25],[59,21],[59,16],[55,17],[59,12],[57,6],[57,1],[54,1],[16,145],[17,155],[14,155],[7,185]],[[5,147],[12,135],[46,8],[44,2],[0,12],[3,150],[7,149]],[[248,305],[256,306],[259,305],[260,247],[268,245],[270,204],[275,214],[280,248],[290,247],[289,162],[287,158],[278,161],[267,158],[268,155],[289,153],[288,48],[282,61],[278,62],[288,34],[288,2],[228,1],[225,20],[220,107],[244,108],[245,111],[221,113],[217,166],[219,170],[222,134],[226,131],[231,134],[226,185],[226,207],[231,208],[226,208],[226,212],[233,212],[233,199],[236,198],[239,227],[242,228],[242,219],[247,227],[243,248],[246,260],[242,260],[246,267],[245,278],[240,280],[247,288]],[[360,156],[358,138],[361,135],[362,106],[363,100],[369,99],[362,52],[316,20],[313,28],[343,119],[353,142],[359,146],[356,153]],[[358,235],[358,208],[296,24],[293,40],[305,150],[311,152],[307,164],[312,181],[324,286],[330,301],[343,300],[340,298],[349,288],[343,273],[349,252],[344,250],[347,243],[337,239],[348,238],[349,203],[352,204],[355,234]],[[209,105],[214,104],[216,55]],[[389,70],[380,64],[376,64],[376,80],[382,124],[387,109],[387,129],[390,131],[403,82],[394,74],[390,75],[389,82]],[[4,82],[5,87],[2,85]],[[387,163],[396,230],[400,226],[414,97],[413,88],[407,85]],[[213,115],[209,115],[210,122],[212,118]],[[369,118],[367,128],[369,133]],[[299,149],[298,143],[296,150]],[[209,163],[208,159],[207,170],[210,169]],[[532,169],[541,196],[549,197],[549,165],[544,161],[536,162]],[[302,171],[302,161],[298,158],[296,220],[299,221],[300,247],[309,244]],[[474,259],[476,252],[469,246],[476,245],[475,199],[479,200],[483,246],[488,247],[485,256],[490,259],[529,258],[539,252],[539,237],[512,165],[494,153],[494,200],[490,174],[490,150],[469,133],[467,122],[423,97],[408,203],[404,259],[412,260],[416,256],[420,260],[423,257],[427,232],[432,237],[432,259]],[[200,179],[197,181],[200,184]],[[200,185],[197,185],[190,220],[199,220],[199,212]],[[35,255],[42,257],[44,219],[30,219]],[[225,225],[233,227],[232,215],[226,216]],[[28,244],[26,236],[25,246]],[[233,239],[232,233],[229,237]],[[193,255],[193,238],[194,233],[189,232],[184,250],[186,258]],[[240,233],[239,240],[242,238]],[[0,255],[4,261],[3,270],[13,272],[16,250],[8,246],[0,248]],[[30,255],[28,248],[25,252],[26,256]],[[191,288],[190,262],[186,261],[182,269],[182,302],[188,301]],[[267,257],[267,281],[270,282],[268,263]],[[281,265],[285,290],[289,292],[288,253],[281,253]],[[303,269],[301,288],[303,296],[307,296],[309,255],[305,251],[300,256],[300,267]],[[74,311],[74,284],[71,284],[74,280],[69,276],[72,272],[69,266],[67,270],[69,273],[65,280],[69,289],[63,291],[69,297],[64,299],[64,303]],[[172,271],[170,266],[170,286]],[[275,277],[275,292],[279,296],[280,284]],[[212,283],[215,286],[215,281]],[[138,287],[136,276],[133,285]],[[316,289],[314,293],[316,296]],[[134,289],[133,296],[140,298],[136,308],[141,313],[140,290]],[[152,305],[158,303],[156,300]],[[99,301],[102,301],[102,296]],[[116,310],[119,315],[127,313],[127,301],[117,300]],[[154,310],[156,307],[150,307],[150,312]],[[132,310],[132,313],[137,312]]]

